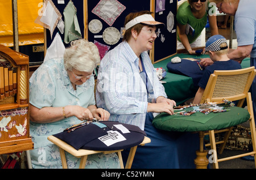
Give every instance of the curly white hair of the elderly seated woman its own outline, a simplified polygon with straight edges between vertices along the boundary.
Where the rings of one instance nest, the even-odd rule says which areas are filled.
[[[77,71],[92,72],[100,63],[98,48],[93,42],[84,39],[71,42],[71,46],[65,49],[64,66],[66,70],[75,68]]]

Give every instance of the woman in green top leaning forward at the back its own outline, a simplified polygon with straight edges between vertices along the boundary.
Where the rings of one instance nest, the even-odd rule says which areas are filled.
[[[207,24],[207,18],[211,36],[218,35],[217,20],[214,12],[214,6],[212,8],[209,7],[207,0],[188,0],[182,3],[177,10],[177,44],[181,42],[189,54],[196,54],[192,48],[196,47],[196,39]]]

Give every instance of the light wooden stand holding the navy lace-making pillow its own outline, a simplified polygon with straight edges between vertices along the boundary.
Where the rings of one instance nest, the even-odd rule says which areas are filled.
[[[122,155],[121,155],[121,151],[123,151],[123,149],[119,149],[119,150],[115,150],[115,151],[92,151],[92,150],[86,150],[86,149],[79,149],[78,151],[73,148],[71,145],[65,143],[63,140],[60,140],[58,138],[56,138],[55,136],[51,135],[48,136],[47,138],[49,141],[51,141],[53,144],[57,145],[60,149],[60,157],[61,157],[61,162],[62,162],[62,166],[63,169],[67,169],[67,161],[65,158],[65,151],[67,151],[68,153],[71,153],[71,155],[76,156],[77,158],[81,158],[81,162],[80,162],[80,169],[84,169],[85,168],[85,164],[86,164],[86,160],[87,160],[87,156],[88,155],[93,155],[96,153],[114,153],[117,152],[118,153],[118,157],[119,157],[119,161],[120,161],[120,166],[123,169],[123,160],[122,160]],[[150,138],[147,138],[146,136],[144,137],[144,140],[141,144],[139,145],[144,145],[146,143],[150,143],[151,140]],[[126,169],[130,169],[131,168],[131,164],[133,164],[133,158],[135,155],[135,152],[137,150],[137,146],[134,146],[130,149],[130,153],[126,162]]]

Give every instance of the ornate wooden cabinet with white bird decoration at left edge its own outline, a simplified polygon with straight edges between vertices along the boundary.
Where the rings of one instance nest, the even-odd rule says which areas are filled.
[[[0,154],[33,149],[28,110],[28,56],[0,44]]]

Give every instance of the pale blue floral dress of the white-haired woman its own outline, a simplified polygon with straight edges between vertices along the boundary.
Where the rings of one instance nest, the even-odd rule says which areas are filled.
[[[45,106],[60,107],[79,105],[87,108],[94,105],[94,78],[73,89],[63,59],[44,62],[30,78],[30,104],[41,109]],[[34,142],[31,152],[32,168],[62,168],[59,148],[49,142],[49,135],[62,132],[65,128],[81,123],[76,117],[52,123],[30,122],[30,135]],[[80,159],[66,153],[68,168],[78,168]],[[119,168],[115,153],[88,156],[86,168]]]

